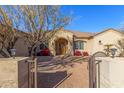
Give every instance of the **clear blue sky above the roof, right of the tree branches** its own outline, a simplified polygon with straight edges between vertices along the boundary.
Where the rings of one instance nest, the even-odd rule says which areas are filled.
[[[62,11],[73,17],[66,27],[81,32],[100,32],[107,28],[119,29],[124,24],[124,6],[64,5]]]

